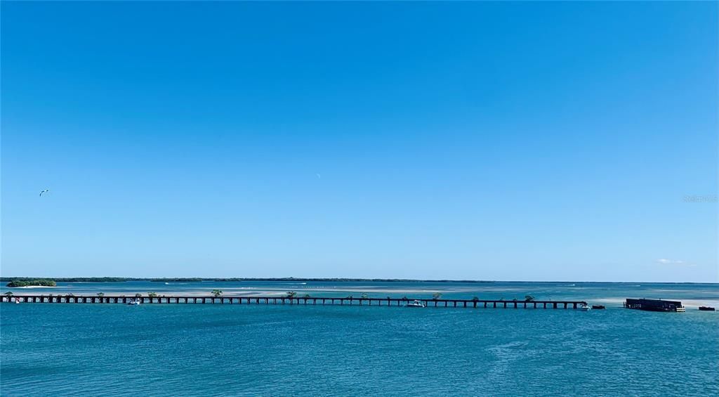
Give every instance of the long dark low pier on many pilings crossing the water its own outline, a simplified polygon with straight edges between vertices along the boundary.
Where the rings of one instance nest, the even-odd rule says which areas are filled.
[[[585,301],[505,301],[484,299],[414,299],[414,298],[354,298],[354,297],[289,297],[289,296],[83,296],[83,295],[3,295],[0,302],[32,304],[265,304],[265,305],[357,305],[404,306],[420,301],[427,307],[502,308],[502,309],[577,309]]]

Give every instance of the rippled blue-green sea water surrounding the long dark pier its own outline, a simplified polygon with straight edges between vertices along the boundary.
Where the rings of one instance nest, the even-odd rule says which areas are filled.
[[[60,283],[22,293],[582,299],[588,312],[0,305],[2,396],[716,396],[717,284]],[[8,288],[0,288],[4,293]],[[622,309],[684,301],[686,313]]]

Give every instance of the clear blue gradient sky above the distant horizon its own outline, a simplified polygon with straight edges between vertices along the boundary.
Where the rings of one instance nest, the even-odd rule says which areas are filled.
[[[1,11],[4,276],[718,281],[716,2]]]

